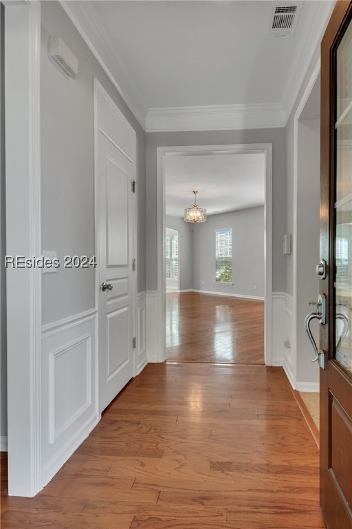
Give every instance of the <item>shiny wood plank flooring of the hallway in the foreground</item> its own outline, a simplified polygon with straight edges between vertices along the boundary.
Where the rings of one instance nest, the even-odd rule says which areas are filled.
[[[1,485],[2,529],[325,527],[281,368],[148,364],[39,495]]]

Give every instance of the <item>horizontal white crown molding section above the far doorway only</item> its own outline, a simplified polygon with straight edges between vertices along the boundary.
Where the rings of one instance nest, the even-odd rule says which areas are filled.
[[[280,103],[159,107],[149,109],[146,115],[146,132],[273,127],[285,127],[285,111]]]

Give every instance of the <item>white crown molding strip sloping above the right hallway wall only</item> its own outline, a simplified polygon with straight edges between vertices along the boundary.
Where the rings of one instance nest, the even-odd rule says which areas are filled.
[[[304,41],[301,43],[300,52],[296,57],[296,63],[292,68],[291,75],[287,77],[287,83],[283,92],[283,108],[285,110],[285,125],[296,103],[296,98],[303,85],[314,51],[322,40],[327,23],[335,7],[336,0],[324,0],[311,4],[314,9],[313,23],[307,31]]]

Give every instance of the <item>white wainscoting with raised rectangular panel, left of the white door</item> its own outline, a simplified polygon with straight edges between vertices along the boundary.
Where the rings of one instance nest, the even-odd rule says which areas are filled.
[[[100,420],[97,320],[91,309],[42,329],[43,486]]]

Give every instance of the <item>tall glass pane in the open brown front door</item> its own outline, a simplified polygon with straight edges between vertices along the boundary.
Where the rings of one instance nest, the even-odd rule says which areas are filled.
[[[336,360],[352,372],[352,24],[336,59]]]

